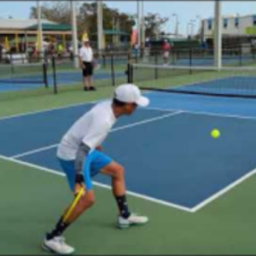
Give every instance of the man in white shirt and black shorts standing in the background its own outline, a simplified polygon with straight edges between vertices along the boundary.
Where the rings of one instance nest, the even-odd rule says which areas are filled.
[[[93,50],[88,39],[85,39],[83,43],[84,45],[79,49],[79,62],[80,67],[83,69],[84,90],[96,90],[92,79],[94,68]]]

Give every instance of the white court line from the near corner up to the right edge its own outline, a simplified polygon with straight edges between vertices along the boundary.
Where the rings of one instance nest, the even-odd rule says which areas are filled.
[[[237,179],[234,183],[230,183],[230,185],[228,185],[227,187],[224,187],[224,189],[219,190],[216,194],[211,195],[205,201],[201,201],[201,203],[193,207],[191,211],[197,212],[201,210],[201,208],[206,207],[209,203],[218,199],[221,195],[224,195],[231,189],[234,189],[238,184],[244,182],[245,180],[247,180],[247,178],[252,177],[255,173],[256,173],[256,169],[253,169],[253,171],[251,172],[247,172],[247,174]]]

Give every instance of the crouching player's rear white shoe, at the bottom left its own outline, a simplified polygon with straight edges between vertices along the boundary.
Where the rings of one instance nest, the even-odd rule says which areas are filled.
[[[67,245],[63,236],[55,236],[49,240],[44,239],[42,247],[48,252],[62,255],[72,254],[75,251],[73,247]]]

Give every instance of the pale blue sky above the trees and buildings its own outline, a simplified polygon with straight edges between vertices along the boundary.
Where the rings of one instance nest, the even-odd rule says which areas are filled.
[[[48,2],[49,3],[49,2]],[[137,2],[131,1],[108,1],[109,7],[119,9],[129,14],[137,12]],[[27,18],[29,16],[30,8],[36,4],[32,2],[0,2],[0,17],[8,17],[12,15],[14,18]],[[164,27],[166,32],[174,32],[175,17],[172,14],[177,14],[180,21],[179,31],[187,32],[187,24],[189,20],[196,20],[196,15],[201,18],[208,18],[214,14],[214,3],[212,1],[205,2],[183,2],[183,1],[151,1],[144,2],[144,12],[159,13],[162,16],[171,18]],[[256,14],[256,1],[234,1],[222,3],[223,15],[252,15]],[[195,21],[195,30],[199,26],[199,20]]]

